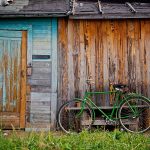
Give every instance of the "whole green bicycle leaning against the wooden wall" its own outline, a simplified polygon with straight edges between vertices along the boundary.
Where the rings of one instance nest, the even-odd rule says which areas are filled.
[[[89,85],[90,80],[87,80]],[[91,85],[90,85],[91,86]],[[121,125],[126,131],[142,133],[150,129],[150,99],[137,93],[127,92],[123,84],[112,85],[114,90],[108,92],[85,92],[84,97],[74,98],[64,103],[57,115],[60,128],[66,133],[89,130],[96,124],[96,113],[99,111],[105,124]],[[97,94],[114,95],[115,103],[106,113],[104,107],[97,106],[92,96]]]

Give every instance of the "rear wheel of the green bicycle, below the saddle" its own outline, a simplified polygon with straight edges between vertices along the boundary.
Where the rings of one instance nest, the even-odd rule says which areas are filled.
[[[144,97],[132,97],[119,109],[119,120],[129,132],[142,133],[150,129],[150,102]]]

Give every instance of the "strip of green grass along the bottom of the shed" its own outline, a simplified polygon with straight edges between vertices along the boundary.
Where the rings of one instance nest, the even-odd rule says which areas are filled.
[[[0,132],[0,150],[149,150],[150,135],[94,131],[80,134],[60,132]]]

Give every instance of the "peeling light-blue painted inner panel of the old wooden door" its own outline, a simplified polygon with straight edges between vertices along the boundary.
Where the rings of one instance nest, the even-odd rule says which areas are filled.
[[[19,112],[20,110],[20,72],[21,72],[21,37],[12,37],[6,31],[4,39],[0,39],[0,111]],[[0,37],[3,34],[0,31]],[[11,35],[11,37],[9,37]],[[7,38],[8,36],[8,38]]]

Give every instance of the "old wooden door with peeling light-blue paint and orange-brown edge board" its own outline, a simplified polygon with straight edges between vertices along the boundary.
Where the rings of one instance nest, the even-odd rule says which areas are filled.
[[[25,127],[26,34],[0,30],[0,128]]]

